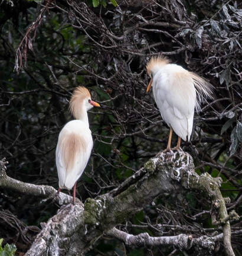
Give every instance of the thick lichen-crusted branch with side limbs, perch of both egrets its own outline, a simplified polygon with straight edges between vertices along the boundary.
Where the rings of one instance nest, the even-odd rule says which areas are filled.
[[[32,193],[34,196],[53,197],[54,189],[49,193],[46,192],[49,187],[19,182],[18,184],[21,185],[16,186],[16,183],[17,181],[5,174],[2,162],[0,187],[8,187],[10,190],[21,193]],[[188,153],[158,153],[155,158],[146,162],[143,168],[110,193],[96,199],[87,199],[84,206],[80,202],[74,206],[71,204],[62,206],[57,215],[42,226],[42,231],[37,235],[26,255],[83,255],[103,233],[122,239],[127,245],[132,244],[132,236],[127,234],[124,239],[124,233],[114,229],[117,224],[129,219],[162,193],[172,194],[176,191],[189,190],[197,191],[212,201],[213,223],[223,226],[223,233],[214,238],[207,236],[193,238],[188,235],[150,238],[144,233],[136,237],[136,241],[142,238],[141,241],[149,245],[172,244],[182,251],[202,248],[211,252],[215,241],[224,238],[227,255],[234,255],[230,242],[229,216],[219,190],[220,184],[221,178],[212,178],[208,174],[201,176],[196,174],[193,160]],[[23,189],[23,187],[26,188]],[[58,201],[62,196],[61,193],[60,197],[55,196],[54,200]],[[59,203],[63,204],[63,200]],[[233,217],[237,217],[236,214],[233,213]]]

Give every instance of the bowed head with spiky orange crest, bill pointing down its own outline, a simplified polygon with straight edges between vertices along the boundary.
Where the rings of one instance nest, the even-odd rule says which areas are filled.
[[[146,69],[149,77],[151,78],[151,81],[149,82],[146,92],[148,92],[149,89],[151,89],[152,79],[155,76],[156,72],[158,72],[159,69],[162,68],[162,66],[165,66],[169,63],[170,60],[165,56],[152,57],[151,60],[149,60],[149,62],[146,65]]]

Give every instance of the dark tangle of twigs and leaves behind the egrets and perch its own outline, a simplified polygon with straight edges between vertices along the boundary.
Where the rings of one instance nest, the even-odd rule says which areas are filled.
[[[94,148],[78,183],[78,196],[83,201],[96,197],[132,175],[165,149],[168,140],[168,127],[152,94],[146,93],[146,62],[162,53],[214,85],[214,100],[195,115],[191,142],[182,142],[182,148],[194,158],[199,174],[223,178],[221,190],[231,199],[228,209],[241,215],[241,3],[119,1],[115,7],[115,1],[70,0],[42,4],[2,0],[0,6],[0,156],[8,161],[7,174],[58,188],[58,133],[72,118],[71,92],[84,85],[102,108],[89,114]],[[33,24],[37,18],[40,24]],[[35,27],[21,44],[31,24]],[[22,62],[19,69],[16,53],[18,65]],[[58,209],[51,202],[6,190],[1,190],[0,202],[1,216],[11,212],[28,226],[39,226]],[[241,231],[241,220],[231,226],[232,231]],[[221,230],[211,225],[210,202],[194,193],[162,195],[118,227],[154,236]],[[8,230],[7,235],[2,229],[0,236],[24,251],[28,242],[16,238],[19,229]],[[232,244],[241,255],[241,236],[234,235]],[[217,250],[223,255],[222,245]],[[127,248],[103,237],[88,255],[172,252],[183,255],[172,247]]]

